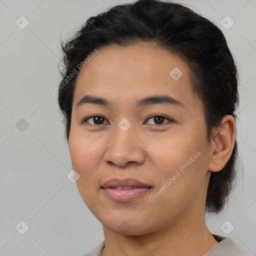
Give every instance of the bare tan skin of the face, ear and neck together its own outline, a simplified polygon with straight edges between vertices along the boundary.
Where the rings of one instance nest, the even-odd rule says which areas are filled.
[[[169,75],[174,67],[183,73],[178,80]],[[100,48],[78,73],[69,150],[72,167],[80,175],[79,193],[103,225],[102,256],[199,256],[218,243],[205,224],[205,198],[211,171],[221,170],[232,153],[235,120],[224,116],[207,143],[203,104],[192,92],[189,77],[189,66],[179,56],[144,42]],[[87,103],[76,108],[85,94],[106,98],[112,105]],[[135,106],[137,99],[163,94],[184,107]],[[172,121],[157,124],[154,114]],[[82,123],[93,115],[102,116],[103,123],[93,118]],[[126,131],[118,126],[123,118],[131,123]],[[197,151],[200,156],[151,202],[149,196]],[[152,190],[129,202],[115,202],[100,188],[113,177],[132,177]],[[126,231],[119,228],[121,223]]]

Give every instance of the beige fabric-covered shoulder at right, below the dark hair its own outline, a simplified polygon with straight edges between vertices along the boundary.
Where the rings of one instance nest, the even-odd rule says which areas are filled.
[[[206,252],[203,256],[249,256],[243,252],[231,238],[212,234],[218,244]]]

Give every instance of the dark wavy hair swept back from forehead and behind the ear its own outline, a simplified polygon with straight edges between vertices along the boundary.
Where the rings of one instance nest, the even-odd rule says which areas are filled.
[[[66,42],[61,40],[64,68],[58,88],[58,104],[65,123],[68,141],[73,92],[77,75],[66,77],[95,48],[109,44],[132,45],[146,42],[161,46],[182,57],[191,70],[192,90],[202,100],[205,111],[207,141],[212,128],[220,125],[224,115],[235,119],[238,106],[238,74],[233,57],[221,30],[190,8],[171,1],[137,0],[115,5],[91,16]],[[219,213],[236,178],[237,141],[227,163],[211,172],[205,211]]]

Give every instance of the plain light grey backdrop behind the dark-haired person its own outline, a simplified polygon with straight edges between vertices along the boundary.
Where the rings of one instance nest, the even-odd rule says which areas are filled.
[[[79,256],[104,239],[101,223],[66,176],[72,167],[57,96],[48,100],[46,94],[60,81],[60,37],[124,2],[0,0],[0,255]],[[256,1],[177,2],[220,27],[239,69],[237,141],[244,175],[238,173],[224,212],[206,216],[206,223],[210,231],[256,255]],[[29,21],[24,29],[15,23],[21,15]],[[234,21],[229,29],[220,23],[226,15]],[[15,228],[21,220],[29,226],[24,234],[17,231],[24,225]],[[221,229],[227,220],[234,226],[229,234]]]

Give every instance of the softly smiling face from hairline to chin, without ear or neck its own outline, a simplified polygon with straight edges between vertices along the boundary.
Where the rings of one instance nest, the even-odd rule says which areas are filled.
[[[70,156],[79,193],[106,228],[145,234],[204,214],[210,151],[189,77],[180,57],[145,43],[105,46],[79,71]],[[144,185],[107,187],[112,178]]]

